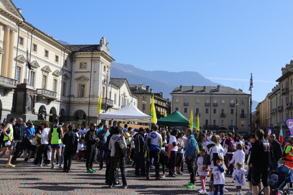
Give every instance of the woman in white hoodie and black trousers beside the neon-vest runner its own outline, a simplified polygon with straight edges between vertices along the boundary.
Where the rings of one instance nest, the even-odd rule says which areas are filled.
[[[42,166],[48,166],[48,156],[47,156],[47,151],[48,151],[48,146],[49,146],[49,137],[48,133],[50,131],[49,128],[49,123],[44,122],[43,123],[43,130],[39,130],[38,132],[38,137],[41,138],[41,146],[38,150],[40,150],[40,155],[39,155],[39,164],[35,165],[36,167],[42,167]],[[42,160],[43,160],[43,154],[45,156],[44,164],[42,165]]]

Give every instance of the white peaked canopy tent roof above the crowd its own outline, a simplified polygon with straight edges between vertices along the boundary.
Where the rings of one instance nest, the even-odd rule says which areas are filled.
[[[142,113],[131,102],[117,111],[100,113],[99,119],[123,122],[151,122],[151,116]]]

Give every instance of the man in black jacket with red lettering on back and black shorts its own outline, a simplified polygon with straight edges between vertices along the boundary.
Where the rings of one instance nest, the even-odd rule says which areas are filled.
[[[261,129],[255,131],[255,139],[257,141],[251,147],[250,166],[252,167],[252,191],[258,194],[258,183],[260,179],[263,183],[265,195],[270,194],[268,177],[270,172],[271,159],[274,158],[272,145],[266,141]]]

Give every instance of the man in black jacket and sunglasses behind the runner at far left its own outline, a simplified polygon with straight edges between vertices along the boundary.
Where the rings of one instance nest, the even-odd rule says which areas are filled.
[[[16,158],[19,154],[19,151],[22,147],[22,140],[25,135],[25,123],[23,122],[22,118],[17,119],[17,123],[12,126],[13,128],[13,138],[14,138],[14,143],[13,146],[15,148],[15,151],[13,153],[13,157],[11,159],[12,163],[16,162]]]

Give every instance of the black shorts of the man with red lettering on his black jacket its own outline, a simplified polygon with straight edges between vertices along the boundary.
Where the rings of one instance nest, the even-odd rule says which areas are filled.
[[[263,183],[263,187],[268,187],[270,168],[269,167],[255,167],[252,169],[252,185],[257,186],[260,183],[260,179]]]

